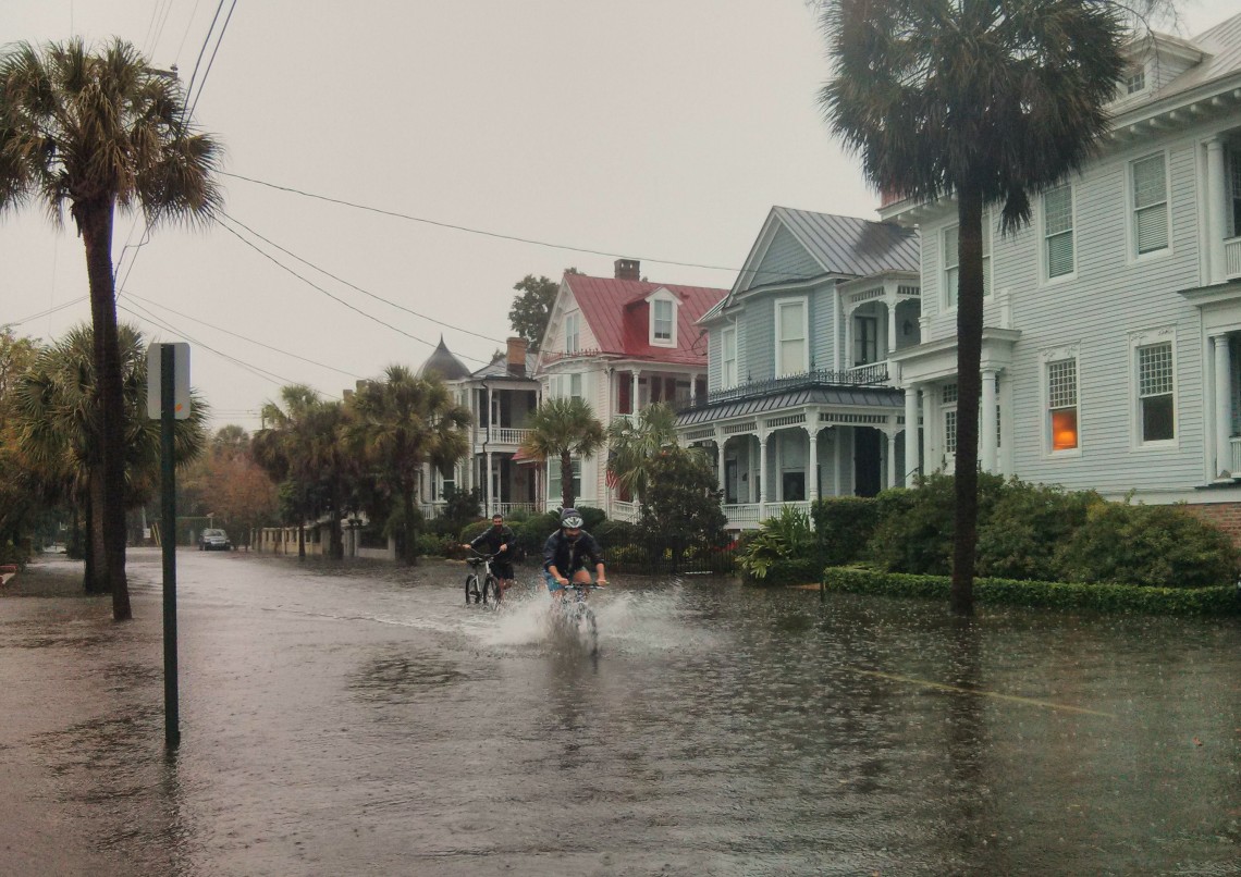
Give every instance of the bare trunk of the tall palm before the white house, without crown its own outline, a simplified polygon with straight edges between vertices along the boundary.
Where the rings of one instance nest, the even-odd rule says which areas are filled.
[[[956,615],[974,613],[974,553],[978,538],[978,402],[983,352],[983,198],[978,189],[958,191],[959,290],[957,295],[957,454],[952,545]]]

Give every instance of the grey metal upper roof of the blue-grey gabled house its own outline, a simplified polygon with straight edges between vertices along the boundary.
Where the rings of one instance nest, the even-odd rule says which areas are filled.
[[[869,277],[891,270],[918,270],[918,232],[915,228],[792,207],[772,207],[772,215],[823,265],[824,274]]]

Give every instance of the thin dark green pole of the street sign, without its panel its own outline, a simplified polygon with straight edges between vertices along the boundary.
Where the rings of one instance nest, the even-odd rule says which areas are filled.
[[[181,743],[176,690],[176,468],[174,425],[176,413],[176,358],[171,344],[159,345],[160,356],[160,484],[164,523],[160,543],[164,553],[164,744]],[[148,365],[148,368],[150,365]]]

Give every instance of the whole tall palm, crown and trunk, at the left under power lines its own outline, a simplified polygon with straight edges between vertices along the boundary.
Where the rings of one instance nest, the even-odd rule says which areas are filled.
[[[220,205],[216,140],[191,131],[180,83],[129,43],[98,52],[78,38],[0,57],[0,213],[41,202],[66,208],[86,248],[99,376],[99,516],[112,614],[132,618],[125,582],[124,403],[112,264],[113,215],[139,207],[149,226],[206,221]]]

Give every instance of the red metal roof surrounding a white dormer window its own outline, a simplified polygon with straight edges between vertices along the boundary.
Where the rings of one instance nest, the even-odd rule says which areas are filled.
[[[727,289],[681,287],[645,280],[616,280],[586,274],[566,274],[582,316],[599,352],[655,362],[706,366],[706,334],[694,323],[728,294]],[[656,289],[666,289],[680,300],[676,308],[676,346],[650,345],[650,304]]]

